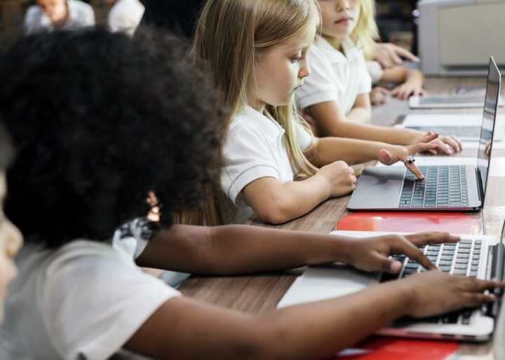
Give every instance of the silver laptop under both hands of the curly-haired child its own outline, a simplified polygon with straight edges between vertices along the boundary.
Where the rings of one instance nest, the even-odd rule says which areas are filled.
[[[370,237],[386,233],[335,231],[349,237]],[[440,271],[479,279],[504,279],[505,228],[501,239],[485,235],[462,235],[457,244],[436,244],[420,247]],[[416,272],[426,271],[417,261],[394,255],[403,263],[398,275],[385,272],[361,272],[349,265],[332,264],[309,267],[285,293],[278,307],[338,298],[380,282],[394,281]],[[377,334],[404,338],[429,338],[480,342],[491,338],[501,307],[501,292],[495,291],[497,302],[473,309],[463,309],[437,317],[414,319],[403,317],[379,329]]]

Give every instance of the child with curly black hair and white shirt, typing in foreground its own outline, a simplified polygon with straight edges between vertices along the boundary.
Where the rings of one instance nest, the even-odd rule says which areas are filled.
[[[156,359],[315,359],[404,314],[494,300],[482,291],[495,282],[429,271],[253,317],[142,272],[137,265],[236,274],[333,261],[398,272],[392,252],[433,269],[415,245],[458,240],[172,225],[180,204],[198,206],[213,183],[224,117],[186,51],[173,36],[89,29],[28,37],[1,58],[0,118],[17,148],[6,212],[28,244],[0,359],[99,360],[123,348]]]

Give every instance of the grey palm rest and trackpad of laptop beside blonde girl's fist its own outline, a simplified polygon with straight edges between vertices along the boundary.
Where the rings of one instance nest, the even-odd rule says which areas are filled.
[[[405,167],[369,167],[361,174],[349,209],[396,209]]]

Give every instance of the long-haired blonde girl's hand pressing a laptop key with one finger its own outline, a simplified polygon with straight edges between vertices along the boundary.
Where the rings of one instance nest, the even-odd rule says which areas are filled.
[[[405,166],[417,176],[417,179],[424,179],[422,172],[417,169],[415,162],[409,162],[408,158],[411,155],[417,153],[422,153],[423,151],[436,150],[437,144],[432,144],[430,141],[438,137],[437,134],[431,134],[430,137],[426,137],[427,141],[411,145],[411,146],[398,146],[398,145],[387,145],[381,151],[379,151],[378,160],[384,165],[393,165],[398,161],[403,161]]]

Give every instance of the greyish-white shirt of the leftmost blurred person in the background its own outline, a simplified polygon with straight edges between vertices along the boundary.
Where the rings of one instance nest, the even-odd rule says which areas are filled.
[[[93,8],[79,0],[67,0],[68,18],[63,29],[76,29],[95,25]],[[41,30],[53,30],[53,22],[38,5],[30,6],[25,15],[25,32],[33,34]]]

